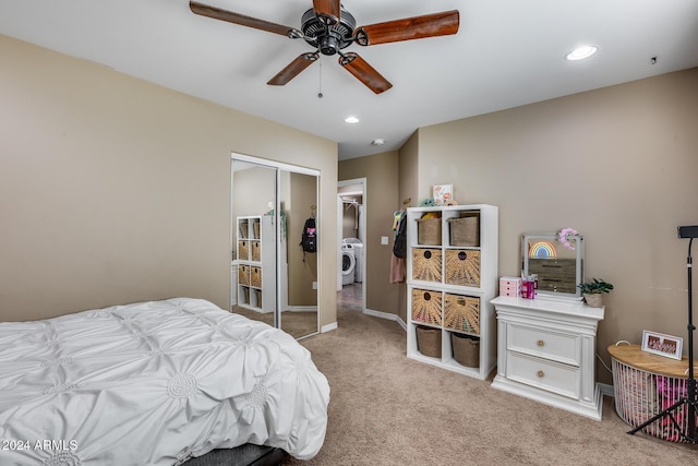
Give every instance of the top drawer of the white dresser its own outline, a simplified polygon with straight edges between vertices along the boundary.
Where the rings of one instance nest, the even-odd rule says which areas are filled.
[[[578,334],[552,332],[509,323],[506,349],[566,365],[579,366],[581,363],[581,339]]]

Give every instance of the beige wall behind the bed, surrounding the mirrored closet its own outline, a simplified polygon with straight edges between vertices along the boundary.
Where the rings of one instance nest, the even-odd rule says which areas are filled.
[[[3,36],[0,123],[1,320],[173,296],[227,308],[232,152],[321,171],[320,273],[337,270],[334,142]]]

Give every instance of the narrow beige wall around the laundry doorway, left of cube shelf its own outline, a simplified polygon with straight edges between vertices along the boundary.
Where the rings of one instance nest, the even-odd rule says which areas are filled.
[[[364,215],[366,238],[364,258],[366,268],[366,308],[373,311],[397,313],[404,287],[390,284],[393,254],[393,213],[400,207],[398,201],[398,154],[387,152],[339,163],[339,180],[365,178]],[[389,244],[381,244],[387,236]]]

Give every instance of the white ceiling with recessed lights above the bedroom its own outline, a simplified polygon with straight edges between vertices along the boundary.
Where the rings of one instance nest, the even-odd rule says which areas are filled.
[[[297,28],[312,8],[312,0],[198,1]],[[0,0],[0,34],[336,141],[340,159],[397,150],[420,127],[698,67],[696,0],[342,4],[358,25],[457,9],[460,29],[346,49],[393,83],[380,95],[336,57],[323,57],[286,86],[268,86],[312,48],[193,14],[189,0]],[[564,60],[582,44],[599,52]],[[349,115],[361,122],[345,123]],[[371,145],[378,138],[385,145]]]

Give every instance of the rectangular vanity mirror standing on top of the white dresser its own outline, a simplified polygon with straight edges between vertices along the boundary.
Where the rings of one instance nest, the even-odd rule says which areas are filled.
[[[570,287],[574,286],[575,292],[566,292],[566,291],[558,291],[556,289],[550,289],[547,287],[547,289],[545,289],[545,286],[541,286],[541,284],[545,283],[545,284],[550,284],[551,282],[555,282],[561,278],[558,277],[554,277],[552,279],[547,279],[546,277],[541,277],[540,273],[539,273],[539,289],[537,289],[535,292],[535,298],[541,298],[541,299],[558,299],[558,300],[568,300],[568,301],[581,301],[582,300],[582,296],[581,296],[581,290],[579,289],[579,287],[577,286],[580,283],[585,282],[585,266],[583,266],[583,262],[585,262],[585,241],[583,241],[583,236],[577,234],[577,235],[567,235],[567,240],[569,242],[569,244],[571,244],[575,249],[574,251],[569,251],[568,249],[565,249],[565,247],[562,244],[562,242],[559,242],[557,234],[556,232],[534,232],[534,234],[524,234],[521,235],[521,276],[522,277],[528,277],[529,275],[531,275],[532,273],[532,267],[530,266],[531,264],[529,263],[530,259],[535,259],[535,258],[531,258],[530,254],[530,244],[538,244],[538,243],[545,243],[549,248],[552,248],[555,251],[554,256],[543,256],[540,259],[550,259],[551,261],[555,261],[555,264],[553,265],[553,263],[551,262],[551,265],[554,266],[555,268],[559,270],[562,266],[559,265],[559,261],[561,259],[556,258],[556,251],[558,250],[564,250],[564,251],[568,251],[575,260],[574,263],[574,271],[575,271],[575,283],[574,284],[566,284],[566,288],[565,289],[571,289]],[[569,255],[569,254],[567,254]],[[567,259],[563,259],[563,260],[567,260]],[[554,286],[554,285],[551,285]]]

